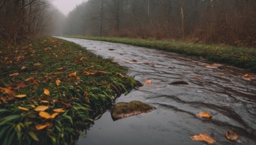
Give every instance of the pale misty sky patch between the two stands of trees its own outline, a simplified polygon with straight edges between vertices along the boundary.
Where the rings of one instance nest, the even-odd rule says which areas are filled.
[[[52,4],[56,6],[62,13],[67,15],[76,5],[81,4],[85,0],[52,0]]]

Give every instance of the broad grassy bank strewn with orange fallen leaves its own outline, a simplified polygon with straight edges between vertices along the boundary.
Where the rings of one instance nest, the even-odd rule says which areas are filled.
[[[136,88],[126,69],[55,38],[0,47],[0,144],[72,144]]]

